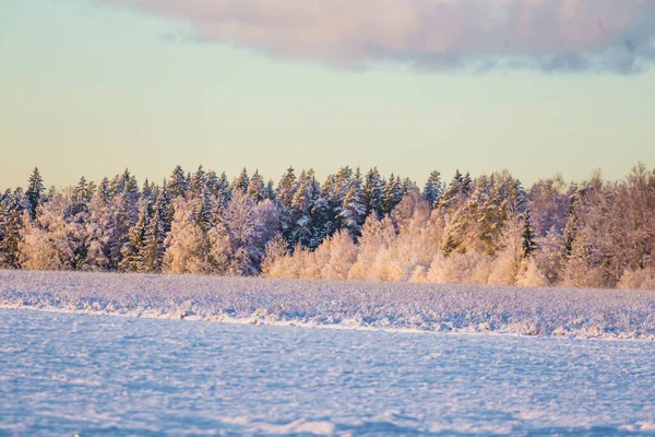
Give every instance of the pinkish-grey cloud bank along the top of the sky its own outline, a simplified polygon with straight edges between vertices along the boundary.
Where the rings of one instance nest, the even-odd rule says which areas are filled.
[[[655,63],[655,0],[100,0],[202,40],[342,67],[631,73]]]

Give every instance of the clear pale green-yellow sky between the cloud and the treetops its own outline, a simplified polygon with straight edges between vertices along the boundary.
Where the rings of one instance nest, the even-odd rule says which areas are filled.
[[[0,189],[129,167],[509,169],[524,184],[655,165],[655,71],[327,64],[198,43],[190,24],[91,0],[0,0]]]

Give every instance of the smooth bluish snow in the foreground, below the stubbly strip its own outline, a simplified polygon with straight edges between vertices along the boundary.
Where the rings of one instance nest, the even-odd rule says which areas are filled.
[[[655,342],[0,309],[0,435],[655,435]]]

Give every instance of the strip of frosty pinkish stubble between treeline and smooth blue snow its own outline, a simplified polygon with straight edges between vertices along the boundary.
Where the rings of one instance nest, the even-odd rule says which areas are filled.
[[[0,307],[347,329],[655,340],[655,292],[0,271]]]

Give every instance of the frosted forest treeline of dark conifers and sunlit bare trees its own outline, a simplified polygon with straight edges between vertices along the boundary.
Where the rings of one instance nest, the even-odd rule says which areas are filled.
[[[623,180],[561,177],[525,189],[509,173],[419,189],[343,167],[277,184],[246,169],[177,166],[140,187],[99,184],[0,194],[0,267],[655,290],[655,170]]]

